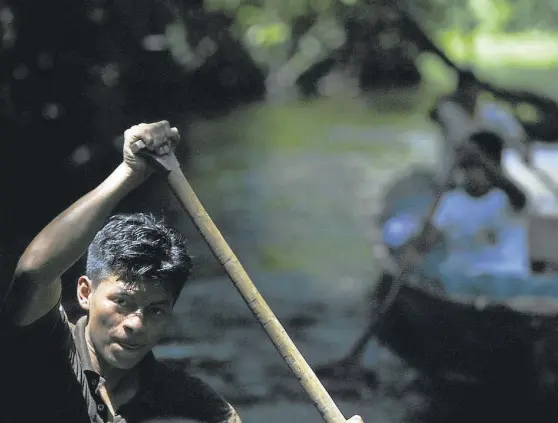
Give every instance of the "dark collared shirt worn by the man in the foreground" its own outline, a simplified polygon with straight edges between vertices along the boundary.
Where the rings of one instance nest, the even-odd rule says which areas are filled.
[[[85,341],[87,318],[69,323],[62,307],[23,328],[0,324],[0,422],[103,423],[108,409]],[[240,422],[235,410],[200,379],[149,353],[138,365],[140,388],[116,410],[115,422],[181,418]]]

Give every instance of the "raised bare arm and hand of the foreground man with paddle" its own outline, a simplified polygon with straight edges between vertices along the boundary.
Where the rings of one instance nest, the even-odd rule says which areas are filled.
[[[116,205],[153,172],[145,159],[132,151],[132,144],[165,155],[178,138],[177,129],[167,121],[142,123],[124,133],[122,163],[50,222],[19,259],[6,306],[13,324],[30,325],[56,306],[62,273],[87,250]]]

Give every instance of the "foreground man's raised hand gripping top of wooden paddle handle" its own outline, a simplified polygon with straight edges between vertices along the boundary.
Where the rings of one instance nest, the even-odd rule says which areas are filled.
[[[138,152],[146,149],[164,156],[174,151],[179,139],[178,129],[171,128],[166,120],[132,126],[124,132],[124,164],[135,174],[149,176],[154,169]]]

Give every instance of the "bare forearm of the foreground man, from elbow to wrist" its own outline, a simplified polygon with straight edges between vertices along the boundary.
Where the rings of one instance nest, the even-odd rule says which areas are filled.
[[[143,179],[125,165],[118,166],[35,237],[18,262],[16,279],[25,274],[35,283],[48,282],[64,273],[86,251],[116,205]]]

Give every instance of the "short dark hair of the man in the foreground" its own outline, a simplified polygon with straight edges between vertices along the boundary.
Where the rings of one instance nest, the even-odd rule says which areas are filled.
[[[130,283],[161,281],[176,300],[190,276],[186,238],[152,214],[118,214],[97,232],[87,251],[86,275]]]

